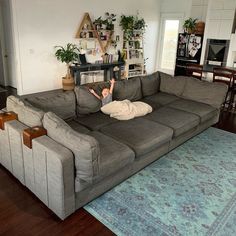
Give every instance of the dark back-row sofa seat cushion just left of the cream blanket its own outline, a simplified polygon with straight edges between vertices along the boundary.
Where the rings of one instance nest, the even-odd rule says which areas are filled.
[[[110,116],[100,111],[87,116],[77,117],[74,120],[90,130],[100,130],[103,126],[117,122],[116,119],[110,118]]]

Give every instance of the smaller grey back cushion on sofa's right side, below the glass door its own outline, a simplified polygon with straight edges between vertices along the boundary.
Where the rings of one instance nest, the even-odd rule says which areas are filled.
[[[160,73],[161,92],[174,94],[176,96],[181,96],[184,92],[184,87],[186,84],[186,76],[172,76],[163,72]]]

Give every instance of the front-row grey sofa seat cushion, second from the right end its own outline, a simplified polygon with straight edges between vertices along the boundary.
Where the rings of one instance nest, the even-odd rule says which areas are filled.
[[[145,118],[172,128],[174,137],[196,128],[200,123],[199,116],[171,107],[161,107]]]

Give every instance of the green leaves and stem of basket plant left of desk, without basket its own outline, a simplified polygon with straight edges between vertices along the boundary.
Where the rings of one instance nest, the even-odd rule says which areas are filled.
[[[78,60],[80,50],[75,44],[72,43],[68,43],[65,47],[55,46],[55,48],[58,48],[55,52],[55,56],[58,61],[66,63],[66,78],[70,78],[70,63]]]

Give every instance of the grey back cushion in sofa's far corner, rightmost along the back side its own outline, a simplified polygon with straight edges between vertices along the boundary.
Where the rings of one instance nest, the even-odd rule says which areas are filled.
[[[160,88],[159,72],[150,75],[140,76],[143,97],[156,94]]]

